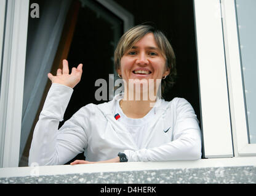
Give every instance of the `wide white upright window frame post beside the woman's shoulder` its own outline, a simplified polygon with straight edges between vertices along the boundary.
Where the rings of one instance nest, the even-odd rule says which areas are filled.
[[[194,18],[204,156],[233,157],[220,0],[194,0]]]

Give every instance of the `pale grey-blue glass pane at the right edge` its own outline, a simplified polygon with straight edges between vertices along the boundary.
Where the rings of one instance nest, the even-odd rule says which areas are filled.
[[[249,143],[256,143],[256,1],[236,0]]]

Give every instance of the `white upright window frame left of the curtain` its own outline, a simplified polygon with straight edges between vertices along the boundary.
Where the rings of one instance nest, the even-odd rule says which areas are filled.
[[[0,4],[4,5],[4,0]],[[0,167],[18,167],[29,0],[6,1],[6,5],[1,56]]]

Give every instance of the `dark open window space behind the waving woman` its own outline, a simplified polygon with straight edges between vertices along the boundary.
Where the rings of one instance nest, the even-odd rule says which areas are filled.
[[[39,5],[41,4],[41,16],[44,17],[44,12],[50,12],[49,6],[52,2],[37,2]],[[145,7],[146,5],[148,7]],[[183,4],[176,1],[165,1],[159,4],[158,9],[154,10],[150,4],[146,5],[143,1],[134,1],[133,3],[127,1],[89,0],[65,2],[63,7],[65,6],[66,11],[65,15],[63,13],[62,18],[62,20],[65,19],[65,23],[61,24],[63,27],[58,26],[59,29],[62,29],[62,32],[60,33],[59,30],[58,36],[56,35],[56,41],[59,40],[58,48],[55,48],[50,53],[52,55],[52,63],[47,64],[49,66],[47,70],[54,74],[59,67],[62,67],[62,59],[68,59],[70,69],[82,63],[84,64],[84,72],[81,82],[74,88],[65,112],[64,121],[60,123],[60,126],[82,106],[89,103],[100,104],[111,100],[112,97],[109,96],[108,100],[95,100],[95,91],[98,88],[95,86],[95,81],[98,78],[109,81],[110,74],[114,74],[114,79],[118,78],[113,67],[113,54],[118,40],[131,26],[145,21],[153,21],[158,28],[166,33],[177,57],[178,78],[174,88],[165,97],[166,100],[172,100],[174,97],[187,99],[193,105],[199,121],[201,120],[193,2]],[[143,14],[140,7],[144,7]],[[170,9],[172,10],[171,12],[169,11]],[[162,21],[163,18],[172,18],[172,20],[166,23]],[[37,52],[31,48],[36,45],[33,41],[33,34],[34,36],[38,34],[37,31],[34,31],[36,26],[40,28],[37,23],[40,23],[40,21],[34,18],[28,19],[27,59],[34,58]],[[31,72],[31,69],[36,69],[36,67],[33,68],[31,66],[27,60],[26,74]],[[41,83],[38,85],[42,86],[41,89],[35,87],[36,85],[31,83],[26,74],[24,89],[27,91],[24,91],[25,93],[23,94],[23,113],[30,115],[23,115],[20,166],[26,166],[27,164],[34,126],[38,121],[39,113],[50,88],[46,70],[42,70],[41,73],[38,72],[41,77],[34,80],[36,84],[41,78]],[[31,85],[31,88],[36,88],[36,91],[31,91],[28,85]],[[33,94],[34,96],[32,96]],[[41,100],[40,104],[38,100]],[[31,102],[31,105],[27,104],[27,102]],[[79,154],[74,159],[84,159],[83,154]]]

